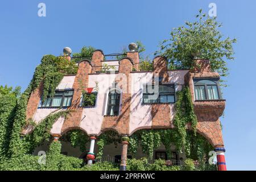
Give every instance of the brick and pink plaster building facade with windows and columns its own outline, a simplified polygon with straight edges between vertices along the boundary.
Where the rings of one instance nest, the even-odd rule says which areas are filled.
[[[176,92],[188,85],[198,120],[197,133],[215,148],[218,169],[226,170],[219,120],[225,109],[218,84],[220,76],[210,71],[208,60],[198,59],[195,62],[200,68],[193,71],[168,70],[166,59],[157,56],[153,60],[153,71],[139,71],[139,53],[136,51],[127,52],[121,60],[107,61],[104,53],[96,50],[92,60],[80,61],[76,75],[64,76],[55,96],[44,103],[40,101],[42,85],[39,86],[28,100],[27,119],[39,123],[51,113],[73,110],[67,119],[57,119],[51,134],[58,139],[70,130],[85,131],[91,140],[87,155],[89,164],[97,150],[94,148],[97,137],[107,130],[117,131],[122,135],[119,155],[121,169],[125,170],[129,136],[142,129],[173,129]],[[81,88],[88,94],[94,94],[95,102],[86,102]],[[187,128],[191,129],[191,126],[187,125]],[[31,129],[23,132],[28,134]],[[162,155],[161,152],[164,148],[154,155]],[[182,154],[175,155],[180,158]]]

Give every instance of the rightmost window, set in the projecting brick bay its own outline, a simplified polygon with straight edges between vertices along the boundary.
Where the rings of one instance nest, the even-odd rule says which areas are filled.
[[[218,100],[221,98],[218,80],[194,80],[196,100]]]

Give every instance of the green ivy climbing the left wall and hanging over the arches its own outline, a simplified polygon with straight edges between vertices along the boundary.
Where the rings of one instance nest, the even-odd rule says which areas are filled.
[[[52,140],[49,132],[56,119],[60,117],[67,118],[72,113],[72,110],[53,112],[39,124],[36,124],[26,117],[28,98],[40,84],[43,85],[42,101],[45,101],[48,96],[54,96],[55,88],[64,74],[76,73],[75,67],[74,62],[69,62],[63,57],[44,56],[42,63],[36,68],[28,88],[20,97],[17,97],[14,93],[0,96],[0,169],[116,169],[114,166],[109,166],[109,164],[102,164],[102,166],[96,164],[92,168],[82,167],[83,161],[81,159],[60,154],[61,143],[59,141],[54,141],[49,146],[45,164],[39,162],[43,160],[44,156],[31,155],[36,146],[39,146],[44,141]],[[177,93],[175,110],[175,129],[137,131],[130,137],[129,153],[135,154],[138,145],[141,145],[142,151],[147,155],[147,158],[152,159],[153,151],[163,143],[166,148],[174,145],[177,151],[185,151],[189,158],[198,159],[203,162],[204,156],[208,154],[207,152],[211,150],[211,147],[203,137],[196,134],[197,120],[193,111],[191,93],[187,87],[184,87],[183,90]],[[192,132],[186,130],[188,123],[191,123]],[[26,127],[32,127],[32,133],[22,135],[21,133]],[[71,142],[74,147],[79,146],[81,151],[86,150],[85,146],[89,141],[88,135],[80,130],[70,131],[61,139]],[[110,143],[120,143],[120,136],[110,131],[100,135],[97,140],[97,158],[101,158],[105,144]],[[167,150],[167,154],[170,156],[170,151]],[[157,164],[155,165],[157,166]],[[150,169],[158,169],[156,166],[153,165]]]

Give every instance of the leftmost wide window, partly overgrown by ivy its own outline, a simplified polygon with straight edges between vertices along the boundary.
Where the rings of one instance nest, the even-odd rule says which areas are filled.
[[[56,91],[55,95],[47,97],[46,101],[40,102],[39,107],[68,107],[71,106],[73,90]]]

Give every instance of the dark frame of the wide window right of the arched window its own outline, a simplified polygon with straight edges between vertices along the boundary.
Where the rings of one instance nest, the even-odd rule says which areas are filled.
[[[162,84],[160,82],[159,82],[158,86],[173,86],[174,93],[168,93],[168,92],[167,93],[160,93],[159,88],[158,88],[159,94],[158,94],[158,98],[155,100],[156,102],[150,102],[150,103],[144,102],[144,96],[150,96],[150,95],[154,96],[154,93],[143,93],[144,86],[146,86],[146,89],[147,89],[147,86],[149,86],[149,85],[152,85],[152,84],[143,84],[142,85],[142,104],[175,104],[175,102],[176,102],[176,90],[175,90],[176,85],[175,84],[170,84],[170,83]],[[147,92],[147,90],[146,90],[146,92]],[[160,102],[160,96],[166,96],[167,100],[168,100],[168,96],[174,96],[174,102]]]

